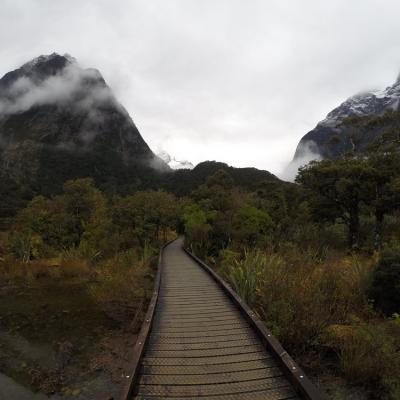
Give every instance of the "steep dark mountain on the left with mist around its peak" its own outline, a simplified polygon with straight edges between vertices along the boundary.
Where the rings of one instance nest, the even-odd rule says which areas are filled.
[[[56,53],[0,79],[0,163],[38,192],[80,176],[137,181],[169,170],[100,72]]]

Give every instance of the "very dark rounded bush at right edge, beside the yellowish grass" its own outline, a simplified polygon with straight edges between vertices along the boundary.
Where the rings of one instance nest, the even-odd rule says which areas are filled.
[[[374,271],[370,297],[384,314],[391,316],[400,312],[400,251],[382,252]]]

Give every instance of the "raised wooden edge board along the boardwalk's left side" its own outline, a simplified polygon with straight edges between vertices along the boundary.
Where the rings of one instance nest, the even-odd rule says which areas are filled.
[[[164,246],[162,246],[160,249],[160,254],[158,256],[157,274],[154,281],[153,295],[151,297],[145,318],[142,323],[142,327],[140,328],[140,332],[137,337],[135,347],[133,349],[132,370],[131,373],[127,376],[127,378],[129,379],[129,383],[127,384],[123,392],[121,400],[129,400],[133,396],[133,391],[135,388],[135,384],[137,382],[137,378],[140,373],[141,361],[143,359],[146,345],[150,337],[150,330],[153,324],[155,310],[158,302],[158,295],[160,292],[161,274],[163,267],[163,251],[173,241],[174,240],[170,240],[169,242],[165,243]]]

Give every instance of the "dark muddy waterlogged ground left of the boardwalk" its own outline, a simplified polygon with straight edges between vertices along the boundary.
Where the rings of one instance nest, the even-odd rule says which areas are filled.
[[[0,282],[1,399],[119,398],[142,311],[114,316],[88,288],[49,278]]]

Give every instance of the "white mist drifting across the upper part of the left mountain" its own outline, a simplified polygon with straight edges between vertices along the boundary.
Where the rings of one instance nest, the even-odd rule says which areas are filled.
[[[46,56],[52,57],[52,56]],[[84,146],[90,145],[101,132],[108,114],[104,107],[112,105],[122,109],[111,89],[105,84],[101,74],[95,69],[83,69],[76,62],[70,62],[56,75],[38,77],[34,61],[26,64],[25,75],[18,78],[0,93],[0,120],[12,114],[24,113],[36,106],[52,105],[67,110],[79,118],[79,139]],[[31,67],[32,64],[33,67]],[[76,137],[64,137],[58,143],[59,148],[76,149],[73,140]],[[7,147],[7,143],[0,146]]]

